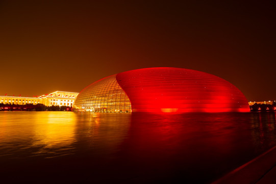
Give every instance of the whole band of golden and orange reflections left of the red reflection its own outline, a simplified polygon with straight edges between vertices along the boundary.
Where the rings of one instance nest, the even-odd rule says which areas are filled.
[[[130,114],[116,115],[20,111],[0,113],[0,157],[53,158],[75,154],[80,151],[78,149],[114,150],[114,146],[121,141],[120,135],[128,130],[130,119]]]

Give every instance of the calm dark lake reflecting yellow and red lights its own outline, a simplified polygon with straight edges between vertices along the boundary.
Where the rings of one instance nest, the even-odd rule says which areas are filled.
[[[0,112],[1,183],[210,183],[276,145],[275,113]]]

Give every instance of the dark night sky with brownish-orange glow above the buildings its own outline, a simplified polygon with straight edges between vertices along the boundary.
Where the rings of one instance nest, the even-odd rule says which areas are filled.
[[[272,2],[272,1],[271,1]],[[268,1],[0,1],[0,95],[81,91],[145,67],[207,72],[276,100]]]

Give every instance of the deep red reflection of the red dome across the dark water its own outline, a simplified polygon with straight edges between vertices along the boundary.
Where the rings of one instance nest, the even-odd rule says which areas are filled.
[[[276,145],[274,125],[274,113],[133,114],[121,154],[140,178],[208,183]]]

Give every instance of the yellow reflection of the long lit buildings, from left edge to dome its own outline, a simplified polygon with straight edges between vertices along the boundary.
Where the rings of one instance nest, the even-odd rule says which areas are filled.
[[[73,154],[76,122],[73,112],[1,112],[0,157]]]

